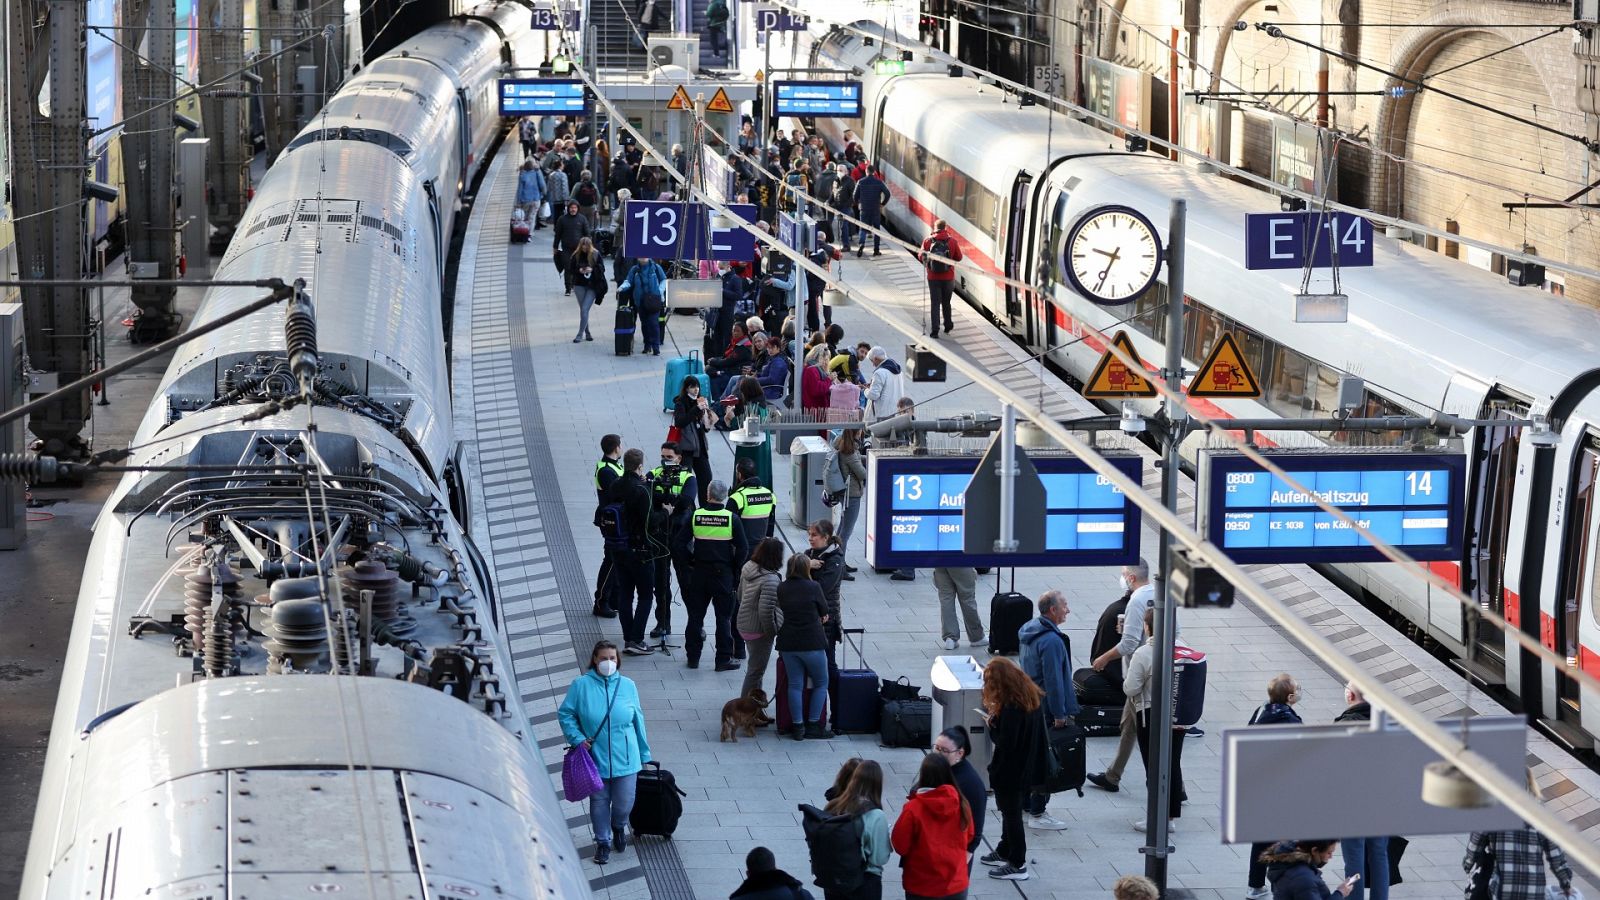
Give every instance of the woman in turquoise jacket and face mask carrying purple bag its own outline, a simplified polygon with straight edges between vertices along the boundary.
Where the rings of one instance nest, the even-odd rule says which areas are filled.
[[[622,677],[616,644],[600,641],[589,653],[589,668],[566,689],[555,717],[568,746],[587,745],[605,786],[589,798],[589,822],[595,830],[595,863],[611,860],[611,850],[627,849],[624,830],[634,812],[638,770],[650,762],[645,709],[638,687]]]

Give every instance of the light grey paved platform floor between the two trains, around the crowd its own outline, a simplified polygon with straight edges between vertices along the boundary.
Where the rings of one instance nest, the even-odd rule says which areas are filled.
[[[664,362],[698,349],[701,336],[698,319],[674,315],[662,357],[613,356],[614,306],[608,298],[594,311],[590,330],[597,340],[571,343],[578,309],[563,296],[552,266],[550,232],[534,232],[526,245],[507,242],[515,162],[512,146],[493,163],[475,200],[459,271],[453,346],[456,429],[472,485],[472,528],[498,573],[518,689],[528,701],[546,761],[558,772],[563,746],[554,722],[555,706],[592,642],[600,636],[621,641],[616,620],[590,615],[594,573],[602,556],[590,524],[598,439],[618,432],[624,447],[638,447],[646,460],[654,460],[654,448],[670,424],[661,410]],[[922,274],[907,253],[885,251],[877,259],[848,255],[842,271],[846,282],[864,288],[891,314],[918,319],[925,303]],[[904,341],[874,312],[861,306],[840,307],[835,320],[845,327],[846,343],[867,340],[902,359]],[[942,346],[990,372],[1014,365],[1000,376],[1013,386],[1038,391],[1051,413],[1093,413],[1093,407],[1059,378],[1026,362],[1018,346],[960,301],[957,328]],[[963,386],[955,376],[941,384],[909,383],[909,389],[918,402],[918,415],[931,415],[930,410],[997,412],[992,396]],[[1120,436],[1102,437],[1102,442],[1138,448]],[[714,436],[717,477],[730,479],[731,458],[723,437]],[[1146,472],[1147,490],[1155,490],[1157,469],[1147,464]],[[803,548],[805,530],[787,514],[789,477],[787,458],[778,456],[773,487],[779,496],[779,532],[792,548]],[[1184,492],[1186,504],[1192,504],[1187,484]],[[930,573],[922,572],[909,583],[874,575],[862,565],[864,532],[859,525],[848,548],[861,573],[843,586],[845,618],[850,626],[866,628],[866,660],[880,676],[907,676],[912,684],[926,687],[934,657],[944,653],[938,645],[939,613]],[[1146,556],[1154,557],[1154,532],[1144,533],[1142,544]],[[1462,703],[1480,714],[1504,713],[1445,663],[1310,569],[1262,567],[1256,577],[1419,708],[1440,717],[1459,714]],[[1080,655],[1074,661],[1086,665],[1082,657],[1086,657],[1094,621],[1120,593],[1117,572],[1024,569],[1016,585],[1029,596],[1048,588],[1067,594],[1072,613],[1066,628]],[[981,580],[979,607],[986,612],[989,593]],[[682,628],[682,601],[674,610],[674,623]],[[1266,701],[1266,684],[1277,673],[1291,673],[1304,685],[1298,708],[1307,722],[1330,722],[1342,711],[1342,684],[1248,604],[1229,610],[1184,610],[1181,629],[1190,645],[1210,655],[1211,671],[1202,721],[1208,733],[1189,738],[1184,748],[1190,802],[1173,841],[1171,884],[1194,897],[1238,900],[1245,894],[1248,846],[1224,846],[1219,839],[1219,733],[1248,721]],[[979,663],[987,660],[982,649],[963,645],[962,652],[971,652]],[[872,757],[885,765],[885,804],[891,818],[899,812],[922,751],[882,748],[875,735],[794,743],[771,730],[760,732],[755,740],[718,743],[722,705],[736,695],[744,673],[710,671],[709,653],[702,665],[690,671],[680,653],[624,660],[624,674],[638,684],[643,697],[654,757],[677,775],[688,798],[672,841],[645,839],[603,868],[586,863],[597,897],[726,897],[741,881],[746,852],[758,844],[773,849],[784,870],[810,882],[797,804],[821,804],[838,764],[850,756]],[[768,689],[773,677],[768,673]],[[1112,738],[1090,740],[1091,772],[1104,767],[1115,745]],[[1533,732],[1528,751],[1534,775],[1550,798],[1549,806],[1600,839],[1600,775]],[[979,868],[970,895],[1109,897],[1117,876],[1144,870],[1142,836],[1131,828],[1133,820],[1142,818],[1144,802],[1138,761],[1130,764],[1117,794],[1094,788],[1086,788],[1083,798],[1058,794],[1050,812],[1069,828],[1027,833],[1032,881],[992,881]],[[592,854],[587,804],[566,804],[566,814],[573,839],[587,858]],[[1307,820],[1315,822],[1315,810],[1307,810]],[[986,847],[994,846],[998,833],[1000,822],[990,806],[984,823]],[[1464,846],[1464,834],[1414,838],[1402,863],[1405,884],[1394,894],[1459,897],[1466,878]],[[899,895],[896,862],[885,871],[885,897]],[[1328,868],[1331,884],[1339,881],[1338,868],[1338,860]],[[1595,895],[1592,884],[1590,879],[1582,887],[1589,895]]]

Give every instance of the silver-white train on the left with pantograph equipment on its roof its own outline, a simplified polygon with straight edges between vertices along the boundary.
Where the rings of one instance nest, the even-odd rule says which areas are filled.
[[[216,277],[304,280],[317,356],[269,307],[162,380],[130,458],[160,469],[96,522],[22,897],[589,897],[461,525],[440,309],[530,10],[373,61],[262,179]]]

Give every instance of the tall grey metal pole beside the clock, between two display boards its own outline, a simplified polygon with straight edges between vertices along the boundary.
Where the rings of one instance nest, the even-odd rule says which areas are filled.
[[[1178,402],[1184,381],[1184,223],[1189,202],[1173,199],[1171,221],[1166,226],[1166,364],[1162,375],[1170,394],[1165,402],[1166,428],[1162,432],[1162,504],[1178,516],[1178,476],[1182,458],[1178,448],[1189,428],[1189,413]],[[1166,894],[1166,858],[1171,855],[1171,833],[1166,809],[1171,802],[1173,783],[1173,647],[1178,639],[1178,597],[1173,593],[1173,535],[1162,528],[1160,575],[1155,591],[1155,621],[1152,644],[1155,650],[1155,684],[1150,689],[1150,757],[1146,762],[1146,778],[1150,785],[1144,810],[1144,833],[1149,836],[1144,852],[1144,874]],[[1182,740],[1182,738],[1176,738]]]

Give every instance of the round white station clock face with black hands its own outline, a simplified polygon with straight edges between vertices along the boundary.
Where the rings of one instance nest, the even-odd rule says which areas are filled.
[[[1078,293],[1104,306],[1122,306],[1155,283],[1162,239],[1138,210],[1101,207],[1067,232],[1064,256]]]

